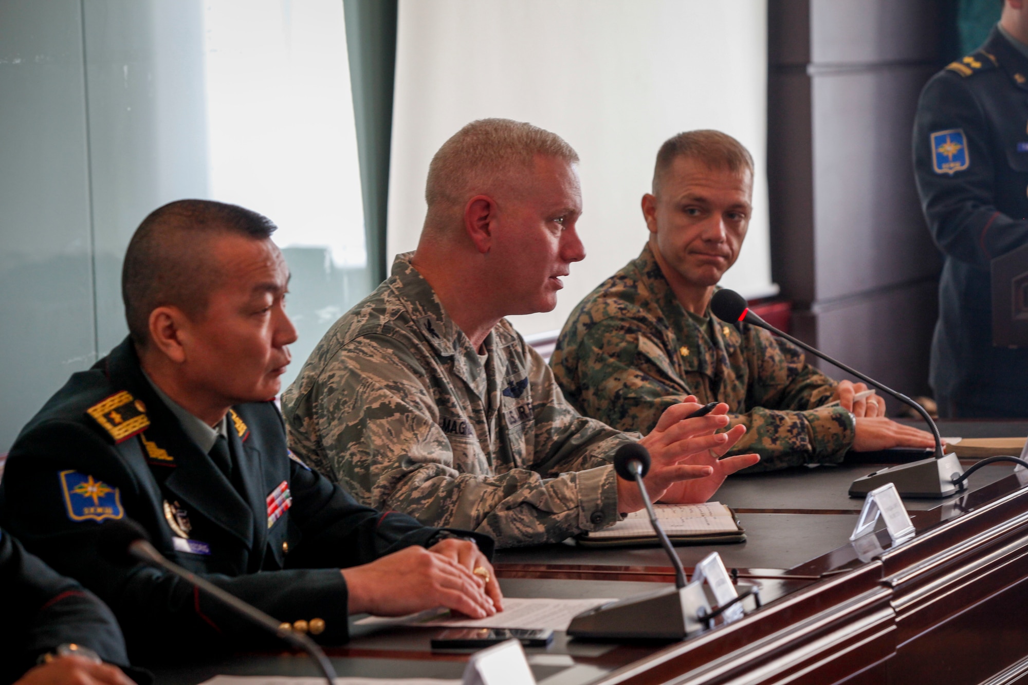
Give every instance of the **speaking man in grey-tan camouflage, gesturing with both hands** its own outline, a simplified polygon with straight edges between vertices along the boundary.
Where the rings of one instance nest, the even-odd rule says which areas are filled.
[[[552,310],[585,256],[577,161],[558,136],[507,119],[472,122],[440,148],[417,251],[325,334],[283,396],[298,455],[365,504],[502,546],[563,540],[642,508],[611,466],[638,436],[580,416],[503,318]],[[697,408],[668,408],[641,440],[654,497],[705,501],[758,460],[718,461],[744,428],[712,434],[725,407],[682,421]]]

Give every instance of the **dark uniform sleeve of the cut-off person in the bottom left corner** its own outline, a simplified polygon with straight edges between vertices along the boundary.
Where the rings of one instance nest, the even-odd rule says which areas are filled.
[[[111,610],[0,530],[0,683],[14,682],[40,654],[69,643],[110,663],[128,664]]]

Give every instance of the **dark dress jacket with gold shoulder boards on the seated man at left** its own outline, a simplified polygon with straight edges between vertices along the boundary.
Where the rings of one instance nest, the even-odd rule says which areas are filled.
[[[338,569],[431,545],[440,532],[359,505],[291,459],[272,402],[237,405],[229,418],[234,485],[153,392],[126,339],[72,375],[11,447],[0,484],[5,525],[107,602],[134,660],[273,638],[162,571],[103,558],[104,520],[137,520],[169,558],[278,620],[322,619],[316,639],[326,643],[347,638]],[[491,552],[489,538],[466,535]]]

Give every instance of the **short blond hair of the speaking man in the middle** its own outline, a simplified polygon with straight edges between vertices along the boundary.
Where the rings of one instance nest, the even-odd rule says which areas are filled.
[[[531,169],[536,155],[568,164],[579,160],[563,138],[530,123],[500,118],[472,121],[432,157],[425,184],[429,217],[449,208],[463,210],[469,197],[491,190],[512,171]]]

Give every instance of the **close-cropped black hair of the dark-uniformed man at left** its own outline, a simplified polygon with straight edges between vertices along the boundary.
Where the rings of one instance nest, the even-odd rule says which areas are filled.
[[[136,345],[147,345],[150,313],[158,307],[177,307],[190,318],[204,314],[220,282],[212,238],[266,240],[276,228],[257,212],[210,200],[179,200],[151,212],[133,233],[121,269],[125,320]]]

